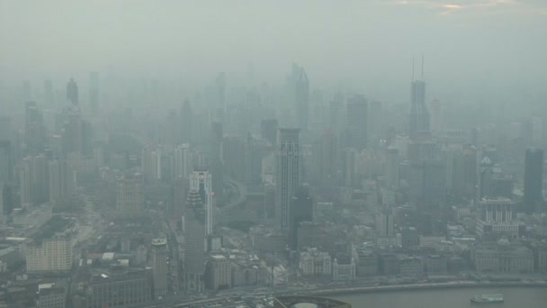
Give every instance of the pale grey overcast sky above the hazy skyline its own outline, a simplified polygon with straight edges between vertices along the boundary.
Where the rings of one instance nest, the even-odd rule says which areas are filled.
[[[545,93],[547,1],[0,0],[4,82],[108,65],[126,76],[206,80],[249,63],[281,82],[296,61],[311,87],[346,83],[398,99],[389,96],[408,90],[412,57],[422,54],[432,95]]]

